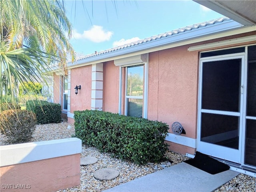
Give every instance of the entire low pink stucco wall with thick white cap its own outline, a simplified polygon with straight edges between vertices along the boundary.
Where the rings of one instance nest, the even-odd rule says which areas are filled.
[[[81,151],[78,138],[0,146],[0,191],[54,192],[78,186]]]

